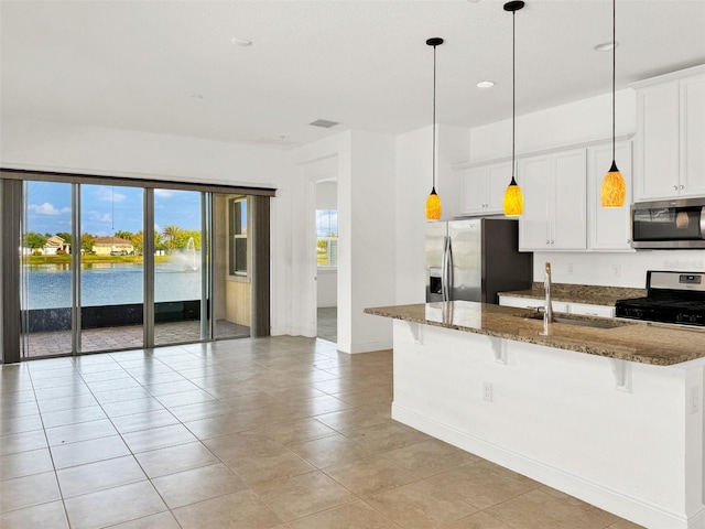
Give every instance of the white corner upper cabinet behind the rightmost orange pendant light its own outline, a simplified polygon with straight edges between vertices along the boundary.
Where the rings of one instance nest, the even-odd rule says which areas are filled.
[[[603,207],[599,192],[605,174],[612,163],[611,142],[587,149],[587,201],[588,201],[588,247],[590,250],[634,251],[631,248],[631,214],[629,205],[632,195],[631,141],[620,141],[615,145],[617,168],[627,183],[627,197],[622,207]]]

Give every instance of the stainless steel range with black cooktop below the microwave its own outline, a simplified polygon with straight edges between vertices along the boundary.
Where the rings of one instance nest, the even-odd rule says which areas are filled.
[[[619,300],[617,317],[705,326],[705,272],[647,272],[647,296]]]

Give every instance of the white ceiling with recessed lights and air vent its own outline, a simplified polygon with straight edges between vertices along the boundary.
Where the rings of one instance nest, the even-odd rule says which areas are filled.
[[[425,41],[441,36],[437,121],[478,126],[511,116],[502,6],[2,0],[1,112],[278,147],[398,134],[432,123]],[[516,23],[518,115],[610,91],[611,53],[593,50],[611,40],[610,0],[528,0]],[[703,64],[705,0],[618,0],[617,41],[618,89]]]

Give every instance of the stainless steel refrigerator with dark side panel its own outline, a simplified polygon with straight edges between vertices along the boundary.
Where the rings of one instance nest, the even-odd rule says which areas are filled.
[[[533,253],[519,251],[519,223],[471,218],[426,223],[426,301],[498,303],[530,289]]]

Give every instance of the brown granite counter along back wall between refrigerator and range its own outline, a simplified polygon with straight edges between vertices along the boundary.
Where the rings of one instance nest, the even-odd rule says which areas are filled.
[[[511,292],[500,292],[499,295],[511,295],[514,298],[534,298],[543,300],[545,290],[543,283],[534,282],[529,290],[517,290]],[[630,298],[643,298],[647,295],[646,289],[630,289],[626,287],[599,287],[594,284],[570,284],[553,283],[551,285],[553,301],[566,303],[586,303],[588,305],[615,306],[617,300],[628,300]]]

